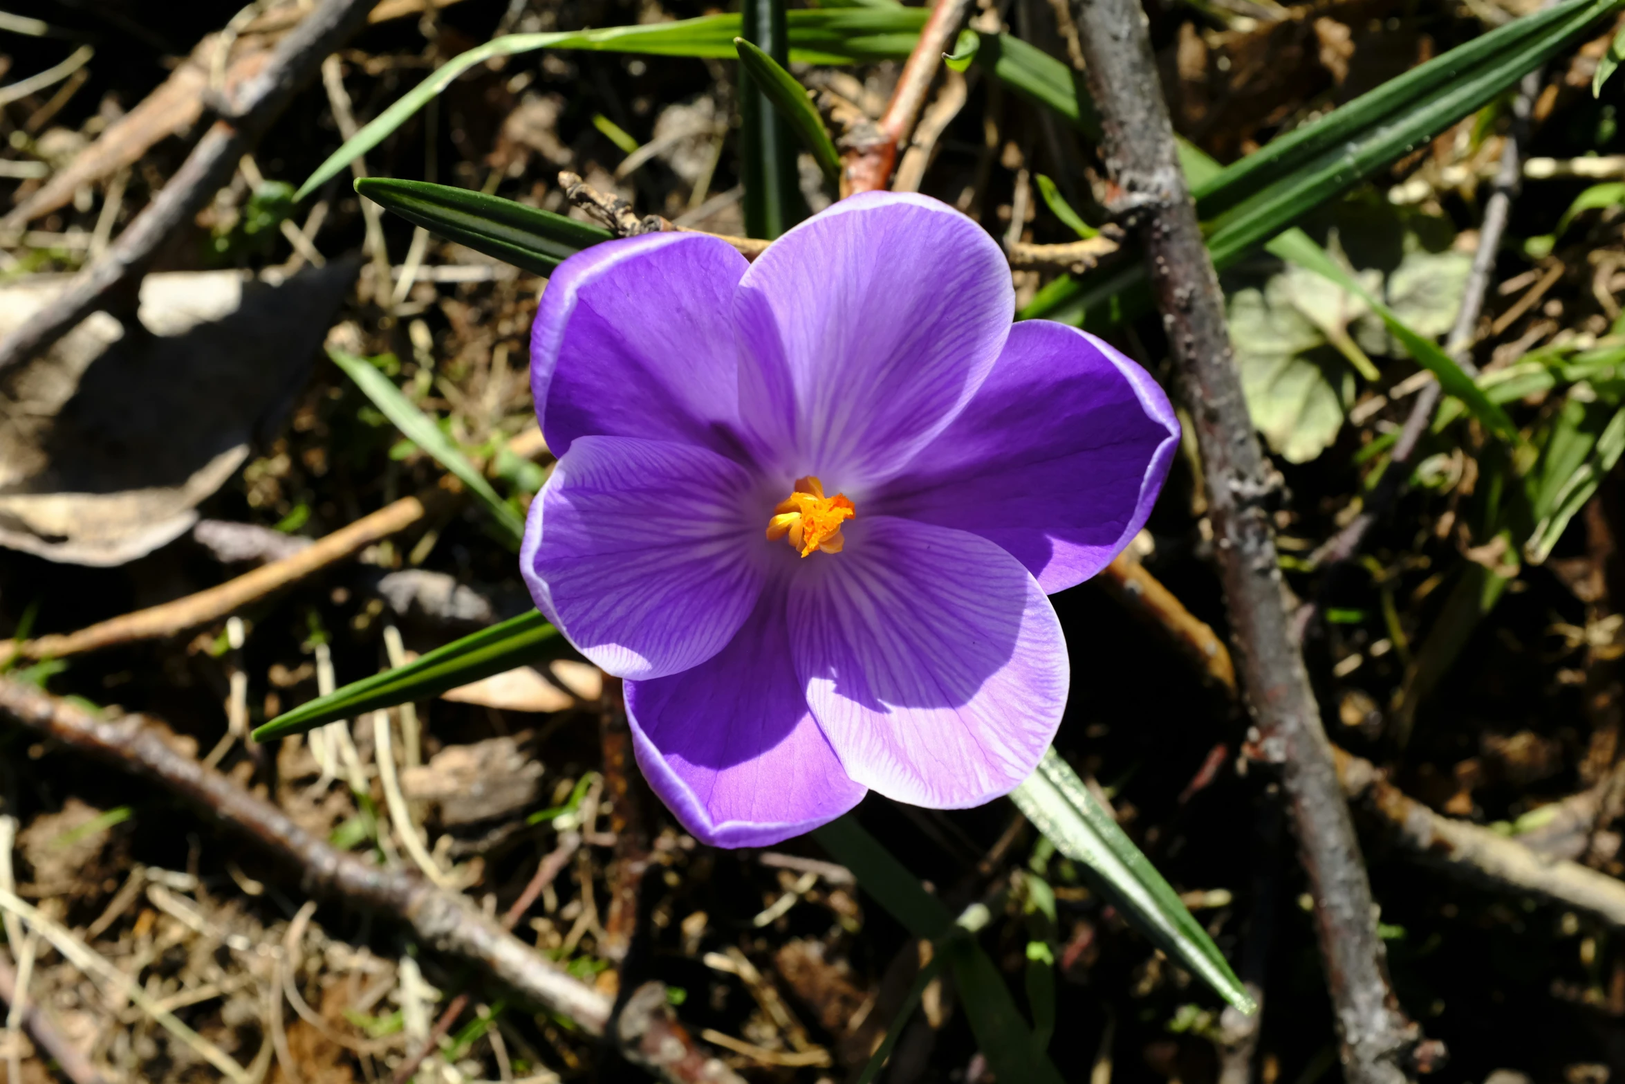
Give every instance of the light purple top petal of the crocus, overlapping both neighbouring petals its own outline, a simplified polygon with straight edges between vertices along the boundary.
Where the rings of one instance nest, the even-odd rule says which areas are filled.
[[[739,280],[739,419],[764,468],[853,499],[965,405],[1009,335],[1009,265],[938,200],[869,192],[775,241]]]

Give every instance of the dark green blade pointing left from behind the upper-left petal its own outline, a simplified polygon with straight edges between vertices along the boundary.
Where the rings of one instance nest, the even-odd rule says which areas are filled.
[[[414,226],[533,275],[551,275],[582,249],[614,236],[552,211],[426,180],[366,177],[356,192]]]

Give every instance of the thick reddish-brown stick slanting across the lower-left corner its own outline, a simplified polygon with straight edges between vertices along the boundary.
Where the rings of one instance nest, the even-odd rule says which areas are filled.
[[[544,960],[466,897],[436,887],[410,869],[374,866],[332,847],[275,804],[172,749],[145,718],[101,718],[78,704],[6,678],[0,678],[0,715],[158,782],[213,813],[297,868],[309,892],[390,915],[410,925],[436,951],[481,967],[544,1009],[574,1021],[588,1035],[608,1032],[613,1008],[608,996]],[[665,1001],[665,988],[652,985]],[[627,1058],[673,1084],[741,1084],[689,1040],[674,1017],[656,1016],[639,1021],[644,1030],[629,1030],[624,1021],[616,1027],[614,1038]]]

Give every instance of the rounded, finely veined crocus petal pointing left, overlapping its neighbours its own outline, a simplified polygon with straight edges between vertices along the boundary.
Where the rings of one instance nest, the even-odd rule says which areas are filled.
[[[520,572],[608,673],[687,670],[733,639],[762,593],[757,484],[694,445],[578,437],[530,505]]]

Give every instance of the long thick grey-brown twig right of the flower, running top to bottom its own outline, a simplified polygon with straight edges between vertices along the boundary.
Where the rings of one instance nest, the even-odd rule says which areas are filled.
[[[1180,171],[1146,13],[1134,0],[1074,0],[1100,111],[1103,203],[1139,228],[1183,398],[1196,423],[1214,551],[1263,749],[1282,764],[1350,1084],[1404,1081],[1417,1029],[1388,983],[1376,912],[1331,743],[1280,592],[1264,460],[1230,351],[1219,276]]]

